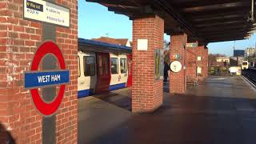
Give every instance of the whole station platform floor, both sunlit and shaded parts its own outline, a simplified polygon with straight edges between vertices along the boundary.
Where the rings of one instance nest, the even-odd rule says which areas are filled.
[[[170,95],[151,114],[133,114],[130,90],[78,102],[78,143],[254,144],[256,92],[242,77],[210,77]]]

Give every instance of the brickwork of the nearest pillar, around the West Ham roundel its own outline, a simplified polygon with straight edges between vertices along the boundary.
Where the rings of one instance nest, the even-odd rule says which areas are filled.
[[[57,44],[70,70],[70,84],[56,114],[56,143],[77,143],[77,1],[58,0],[70,8],[70,28],[56,26]],[[24,71],[30,70],[34,52],[42,43],[42,22],[23,19],[23,0],[0,1],[0,143],[42,143],[42,116],[29,90]],[[5,131],[5,134],[2,133]],[[11,137],[11,138],[10,138]]]

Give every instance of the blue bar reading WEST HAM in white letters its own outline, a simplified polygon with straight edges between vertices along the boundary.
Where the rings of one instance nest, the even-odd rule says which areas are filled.
[[[70,82],[70,71],[30,71],[25,73],[25,89],[62,85]]]

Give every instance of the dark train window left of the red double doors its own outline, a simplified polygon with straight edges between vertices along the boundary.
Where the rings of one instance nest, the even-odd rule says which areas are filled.
[[[84,59],[84,74],[85,76],[94,76],[95,75],[95,61],[94,57],[86,56]]]

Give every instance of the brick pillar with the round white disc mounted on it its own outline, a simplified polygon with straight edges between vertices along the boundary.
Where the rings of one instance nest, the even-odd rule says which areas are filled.
[[[182,70],[174,73],[170,70],[170,94],[183,94],[186,90],[186,34],[174,34],[170,37],[170,62],[179,61],[182,63]],[[179,58],[175,59],[174,55]]]

